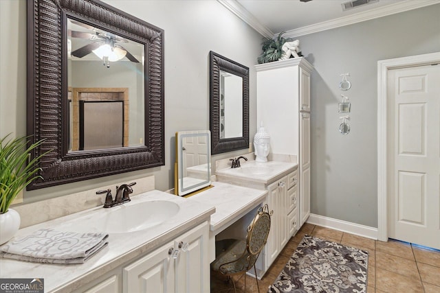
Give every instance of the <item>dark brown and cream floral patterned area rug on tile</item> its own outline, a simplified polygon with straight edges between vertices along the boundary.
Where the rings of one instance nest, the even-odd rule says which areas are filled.
[[[366,292],[368,252],[305,235],[271,293]]]

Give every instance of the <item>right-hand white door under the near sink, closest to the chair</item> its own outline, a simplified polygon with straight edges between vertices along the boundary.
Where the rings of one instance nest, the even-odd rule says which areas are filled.
[[[210,263],[208,261],[208,222],[177,237],[175,260],[176,293],[197,293],[210,291]]]

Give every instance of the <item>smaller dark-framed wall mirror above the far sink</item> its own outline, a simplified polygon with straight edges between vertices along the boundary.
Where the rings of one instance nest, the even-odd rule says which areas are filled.
[[[249,68],[210,51],[211,153],[249,148]]]

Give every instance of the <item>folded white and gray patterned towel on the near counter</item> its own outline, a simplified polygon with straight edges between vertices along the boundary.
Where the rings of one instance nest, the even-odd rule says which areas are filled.
[[[0,256],[41,263],[83,263],[107,246],[108,236],[45,228],[3,245]]]

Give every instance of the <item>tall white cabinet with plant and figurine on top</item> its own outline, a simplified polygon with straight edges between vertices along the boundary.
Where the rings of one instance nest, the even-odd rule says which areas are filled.
[[[310,73],[305,58],[256,65],[257,124],[270,134],[270,152],[296,156],[299,226],[310,214]]]

